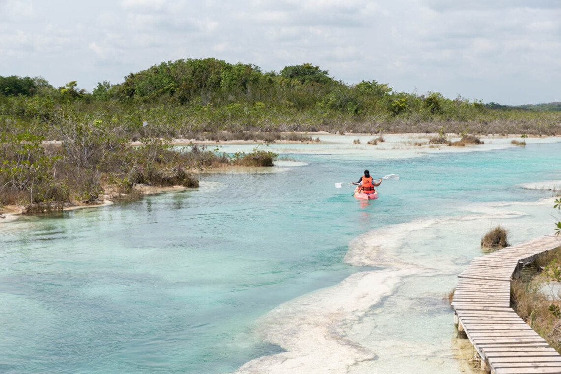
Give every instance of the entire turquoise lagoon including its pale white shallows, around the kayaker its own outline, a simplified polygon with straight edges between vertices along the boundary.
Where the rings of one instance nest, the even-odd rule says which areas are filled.
[[[0,370],[464,372],[443,297],[492,226],[553,231],[540,186],[561,179],[560,139],[355,138],[260,146],[288,161],[0,225]],[[334,188],[365,167],[401,180],[366,203]]]

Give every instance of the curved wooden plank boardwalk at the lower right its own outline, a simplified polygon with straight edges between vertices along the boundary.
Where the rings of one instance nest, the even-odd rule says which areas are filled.
[[[561,245],[546,235],[479,256],[458,275],[452,299],[458,330],[494,374],[561,373],[561,356],[511,308],[511,279],[540,253]]]

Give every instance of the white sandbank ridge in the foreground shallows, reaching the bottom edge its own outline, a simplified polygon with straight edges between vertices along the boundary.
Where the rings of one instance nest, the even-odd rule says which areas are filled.
[[[394,292],[400,277],[415,269],[353,274],[337,286],[287,302],[263,320],[260,333],[287,352],[257,358],[237,374],[345,373],[376,353],[346,337],[346,329],[369,308]]]

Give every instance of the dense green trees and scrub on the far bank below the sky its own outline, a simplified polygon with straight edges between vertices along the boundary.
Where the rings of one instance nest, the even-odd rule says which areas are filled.
[[[61,116],[95,117],[128,137],[196,137],[204,132],[560,133],[550,107],[506,107],[438,92],[394,92],[388,83],[348,85],[311,64],[263,72],[214,58],[164,62],[93,92],[76,81],[54,88],[42,78],[0,77],[0,126],[55,138]],[[508,109],[508,110],[506,110]],[[142,123],[148,122],[143,128]],[[8,125],[9,124],[9,125]]]

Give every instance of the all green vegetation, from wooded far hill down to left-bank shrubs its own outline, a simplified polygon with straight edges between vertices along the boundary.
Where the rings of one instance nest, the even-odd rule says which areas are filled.
[[[216,163],[270,165],[270,152],[177,152],[173,138],[311,140],[297,132],[561,134],[559,103],[509,107],[388,83],[337,81],[318,66],[263,72],[214,58],[164,62],[93,92],[76,81],[0,76],[0,207],[27,212],[98,203],[108,186],[196,186],[192,170]],[[147,123],[143,127],[143,123]],[[140,147],[130,147],[141,140]],[[56,141],[56,142],[47,142]],[[46,204],[46,205],[45,205]],[[45,208],[47,207],[47,208]]]

